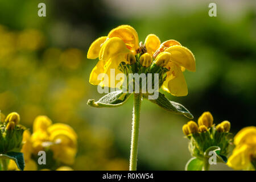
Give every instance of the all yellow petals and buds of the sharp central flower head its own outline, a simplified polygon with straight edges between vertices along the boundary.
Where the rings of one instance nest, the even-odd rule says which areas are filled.
[[[183,71],[196,71],[195,57],[188,48],[181,46],[176,40],[167,40],[160,43],[158,36],[149,34],[144,44],[139,43],[138,34],[129,25],[114,28],[108,36],[102,36],[95,40],[87,53],[88,59],[99,59],[96,67],[90,73],[89,82],[93,85],[117,87],[118,82],[109,85],[110,80],[105,81],[104,73],[110,77],[110,69],[115,69],[115,74],[124,73],[119,67],[121,63],[132,64],[127,60],[127,55],[138,56],[137,61],[142,67],[150,67],[156,64],[166,68],[166,75],[161,75],[163,90],[174,96],[186,96],[188,94],[187,83]]]

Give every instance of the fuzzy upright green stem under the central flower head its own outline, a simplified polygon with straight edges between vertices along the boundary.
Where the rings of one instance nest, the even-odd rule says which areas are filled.
[[[133,104],[133,129],[131,131],[131,153],[130,153],[130,171],[137,169],[137,155],[138,155],[138,138],[139,138],[139,115],[141,111],[141,93],[134,94]]]

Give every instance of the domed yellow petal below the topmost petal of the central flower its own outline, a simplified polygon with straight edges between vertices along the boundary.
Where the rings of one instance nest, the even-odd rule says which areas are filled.
[[[106,40],[104,45],[101,47],[99,59],[109,60],[111,57],[118,55],[119,53],[128,53],[125,43],[120,38],[110,38]]]

